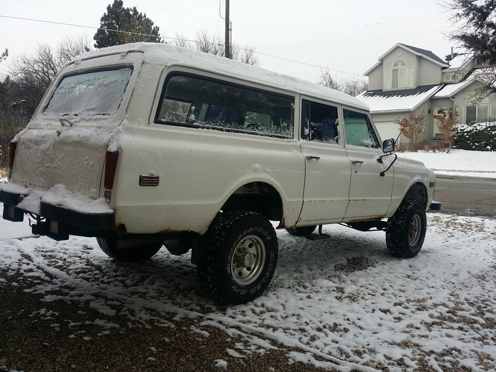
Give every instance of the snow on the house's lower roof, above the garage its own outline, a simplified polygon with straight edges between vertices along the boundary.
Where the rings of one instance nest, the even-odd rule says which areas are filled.
[[[415,89],[368,90],[357,98],[370,106],[371,112],[412,111],[428,100],[442,84],[422,85]]]

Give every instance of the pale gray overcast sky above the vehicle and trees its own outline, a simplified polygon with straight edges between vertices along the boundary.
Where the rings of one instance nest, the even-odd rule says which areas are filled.
[[[113,1],[113,0],[112,0]],[[136,6],[160,27],[193,38],[204,28],[224,34],[219,0],[137,0]],[[111,0],[0,0],[0,15],[98,27]],[[220,0],[223,3],[223,0]],[[445,36],[448,14],[435,0],[231,0],[233,43],[257,52],[363,74],[400,42],[432,50],[443,58],[452,45]],[[222,8],[224,14],[224,8]],[[0,51],[9,59],[31,53],[37,42],[56,45],[64,35],[91,28],[0,18]],[[259,55],[261,67],[316,82],[320,68]],[[4,72],[6,63],[2,63]],[[331,71],[338,79],[351,75]]]

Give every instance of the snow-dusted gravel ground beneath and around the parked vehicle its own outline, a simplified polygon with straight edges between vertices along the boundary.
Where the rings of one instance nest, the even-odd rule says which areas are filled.
[[[193,317],[198,333],[213,325],[248,340],[249,347],[237,344],[241,356],[278,342],[301,350],[288,352],[289,363],[339,371],[493,371],[496,221],[429,214],[428,224],[424,247],[413,259],[390,256],[382,232],[331,225],[324,227],[330,239],[309,241],[278,231],[272,283],[261,297],[236,307],[208,298],[189,254],[162,249],[147,262],[119,263],[95,239],[79,237],[0,241],[0,268],[9,275],[0,278],[0,290],[13,281],[42,293],[43,313],[52,301],[99,310],[108,319],[99,321],[105,337],[117,334],[111,321],[118,313],[152,326]],[[51,316],[56,318],[48,323],[70,326]],[[70,337],[85,342],[83,335]]]

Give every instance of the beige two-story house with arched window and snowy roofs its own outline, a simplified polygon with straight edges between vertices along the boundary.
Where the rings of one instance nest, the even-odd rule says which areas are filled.
[[[496,95],[480,98],[476,94],[487,68],[469,54],[451,50],[443,60],[431,51],[397,43],[364,73],[370,90],[357,98],[370,106],[382,139],[399,135],[397,118],[424,112],[425,131],[420,139],[435,145],[441,137],[431,113],[439,109],[456,109],[458,123],[496,120]],[[399,141],[409,143],[403,135]]]

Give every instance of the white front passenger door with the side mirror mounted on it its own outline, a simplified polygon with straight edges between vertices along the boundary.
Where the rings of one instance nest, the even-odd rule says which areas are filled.
[[[367,112],[343,107],[346,151],[351,165],[350,202],[343,221],[357,218],[382,217],[391,204],[394,169],[384,176],[391,156],[384,155]]]

